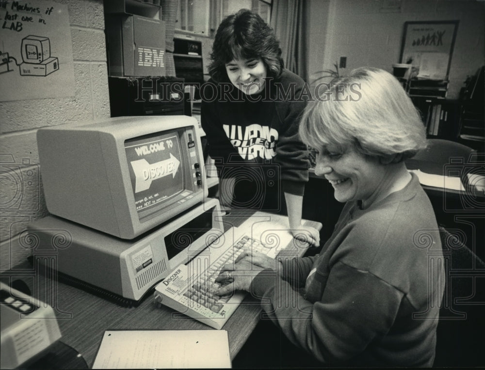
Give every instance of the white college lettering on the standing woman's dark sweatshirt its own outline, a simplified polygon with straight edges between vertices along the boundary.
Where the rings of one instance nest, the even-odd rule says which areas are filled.
[[[230,143],[238,150],[244,160],[262,158],[272,159],[276,155],[278,131],[268,126],[252,124],[249,126],[223,125]]]

